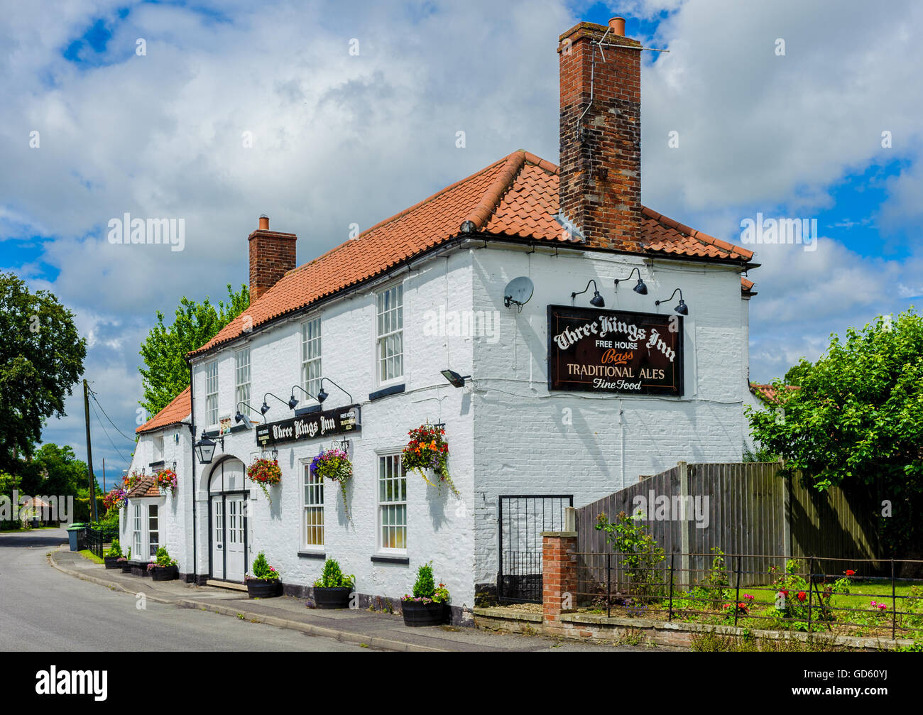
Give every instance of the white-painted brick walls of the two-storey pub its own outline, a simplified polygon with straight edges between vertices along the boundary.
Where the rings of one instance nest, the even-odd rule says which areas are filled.
[[[618,299],[614,278],[641,266],[649,294],[623,283]],[[530,276],[535,294],[521,314],[503,306],[503,288],[516,276]],[[569,304],[595,278],[606,307],[658,312],[653,301],[677,286],[689,304],[684,323],[685,385],[681,399],[641,396],[598,398],[585,393],[549,395],[546,387],[547,304]],[[741,456],[743,421],[741,361],[746,359],[746,303],[740,298],[737,272],[692,263],[658,260],[651,269],[626,256],[567,255],[503,249],[471,249],[441,256],[414,267],[404,284],[404,373],[407,391],[375,402],[374,292],[354,293],[323,309],[321,315],[323,375],[342,385],[362,406],[363,430],[354,435],[354,480],[349,488],[353,523],[342,513],[339,488],[328,485],[325,553],[343,570],[355,574],[360,592],[399,597],[411,590],[416,567],[432,560],[437,578],[445,581],[457,606],[473,605],[475,582],[496,577],[497,496],[501,494],[573,494],[575,505],[690,461],[737,460]],[[588,304],[588,295],[579,299]],[[669,314],[675,305],[662,305]],[[497,311],[493,337],[429,335],[427,311]],[[250,336],[251,405],[258,409],[264,392],[288,399],[301,373],[301,318]],[[431,321],[430,321],[431,326]],[[219,360],[220,409],[234,414],[234,351]],[[205,365],[194,366],[197,430],[205,417]],[[473,375],[473,385],[451,387],[439,371],[450,367]],[[327,407],[347,403],[335,387],[327,387]],[[300,392],[295,395],[306,405]],[[269,398],[269,421],[292,415]],[[565,409],[570,423],[565,423]],[[408,474],[408,556],[410,566],[372,563],[378,552],[378,454],[400,451],[407,431],[426,420],[446,423],[450,471],[462,492],[456,500],[441,496],[419,476]],[[142,440],[143,441],[143,440]],[[273,504],[251,485],[248,566],[259,551],[282,571],[285,582],[310,585],[321,562],[299,557],[302,547],[302,468],[329,442],[312,441],[280,447],[282,485],[273,490]],[[224,454],[245,464],[258,454],[252,431],[225,438]],[[221,457],[221,450],[216,459]],[[210,468],[198,466],[198,571],[208,572],[208,493]],[[186,472],[187,473],[187,472]],[[180,474],[183,504],[188,480]],[[178,510],[178,513],[182,510]],[[191,514],[189,515],[191,520]],[[185,525],[188,522],[182,522]],[[181,529],[177,517],[169,525]],[[184,554],[190,554],[187,534]],[[191,555],[187,556],[191,558]],[[184,570],[186,570],[184,568]]]

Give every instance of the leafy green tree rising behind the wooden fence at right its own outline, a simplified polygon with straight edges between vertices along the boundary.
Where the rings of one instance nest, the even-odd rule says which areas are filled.
[[[776,381],[779,409],[749,412],[754,438],[819,490],[842,485],[876,504],[890,501],[893,515],[880,524],[885,545],[895,557],[915,557],[923,532],[923,316],[911,307],[896,320],[850,328],[845,340],[834,335],[817,362],[801,360],[786,377],[798,389]]]

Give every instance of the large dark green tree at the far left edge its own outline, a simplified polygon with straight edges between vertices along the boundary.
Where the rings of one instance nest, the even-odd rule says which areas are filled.
[[[41,442],[45,421],[65,414],[86,355],[74,314],[53,293],[32,293],[0,273],[0,470],[15,471]]]

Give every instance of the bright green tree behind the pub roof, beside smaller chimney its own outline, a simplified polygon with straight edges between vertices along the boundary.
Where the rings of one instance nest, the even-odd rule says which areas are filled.
[[[157,324],[141,343],[144,367],[139,367],[144,399],[138,404],[153,416],[170,404],[189,384],[186,352],[196,350],[215,337],[219,330],[240,315],[250,304],[246,285],[234,292],[228,283],[228,303],[218,302],[217,309],[208,297],[201,303],[184,296],[176,307],[174,322],[168,327],[157,311]]]

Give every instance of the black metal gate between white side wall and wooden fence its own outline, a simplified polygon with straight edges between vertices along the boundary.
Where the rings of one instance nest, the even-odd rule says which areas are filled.
[[[542,602],[542,531],[564,530],[573,495],[500,496],[497,599]]]

